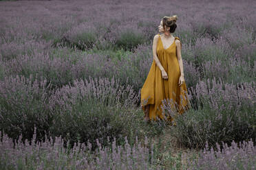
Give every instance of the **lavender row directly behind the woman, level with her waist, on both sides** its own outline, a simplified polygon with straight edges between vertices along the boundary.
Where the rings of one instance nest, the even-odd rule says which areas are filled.
[[[185,48],[184,50],[190,50]],[[52,82],[54,87],[61,87],[72,83],[72,80],[85,80],[89,76],[109,79],[114,76],[120,78],[122,85],[131,84],[138,92],[147,78],[153,61],[149,47],[140,45],[134,53],[127,53],[127,56],[122,56],[120,59],[106,53],[82,53],[66,47],[44,52],[34,51],[30,55],[19,55],[12,60],[1,62],[1,79],[8,75],[29,77],[31,74],[37,74]],[[252,58],[253,54],[248,57]],[[202,56],[199,58],[203,60]],[[187,86],[195,86],[200,80],[206,81],[213,77],[221,78],[228,83],[254,80],[256,60],[246,62],[244,58],[238,56],[233,58],[228,56],[228,58],[227,61],[216,58],[205,59],[198,65],[198,60],[193,59],[193,56],[184,56],[184,78]]]

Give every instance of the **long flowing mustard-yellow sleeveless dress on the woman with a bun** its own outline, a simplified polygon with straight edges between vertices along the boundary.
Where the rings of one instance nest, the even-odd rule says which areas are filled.
[[[178,37],[175,37],[176,39],[180,40]],[[164,49],[160,34],[158,34],[156,53],[164,70],[167,72],[168,79],[162,78],[162,73],[155,60],[153,60],[147,79],[141,89],[140,104],[142,110],[145,110],[145,106],[150,104],[149,119],[154,119],[155,121],[156,117],[159,119],[164,118],[161,107],[163,99],[171,101],[169,106],[171,106],[172,110],[174,109],[174,112],[179,114],[182,114],[191,106],[187,97],[185,82],[182,82],[181,86],[178,84],[180,65],[176,56],[175,40],[167,49]],[[167,119],[173,121],[173,117],[168,116]]]

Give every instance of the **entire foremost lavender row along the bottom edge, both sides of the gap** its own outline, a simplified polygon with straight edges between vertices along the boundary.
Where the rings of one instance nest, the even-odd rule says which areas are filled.
[[[36,127],[32,141],[22,143],[22,135],[13,141],[7,134],[0,132],[0,167],[1,169],[163,169],[156,160],[157,148],[145,137],[144,143],[116,145],[116,140],[103,147],[98,139],[98,149],[92,151],[92,143],[75,143],[66,149],[61,136],[36,142]],[[67,146],[69,146],[67,141]],[[216,143],[217,149],[204,149],[196,155],[182,154],[182,162],[166,162],[172,169],[255,169],[256,146],[253,141],[243,141],[228,146]]]

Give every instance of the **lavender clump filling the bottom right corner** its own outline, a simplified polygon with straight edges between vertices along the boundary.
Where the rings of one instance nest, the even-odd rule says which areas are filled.
[[[198,159],[189,160],[188,169],[255,169],[256,167],[256,146],[253,141],[243,141],[231,146],[222,142],[216,143],[217,149],[209,147],[206,143],[204,150],[200,151]]]

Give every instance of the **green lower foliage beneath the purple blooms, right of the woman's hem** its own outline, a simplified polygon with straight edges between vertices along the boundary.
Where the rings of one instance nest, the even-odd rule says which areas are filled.
[[[206,141],[209,145],[215,143],[230,144],[232,140],[239,142],[256,138],[255,108],[246,108],[234,113],[234,110],[217,112],[204,106],[200,110],[190,110],[180,115],[177,127],[173,128],[173,134],[184,147],[202,149]]]

